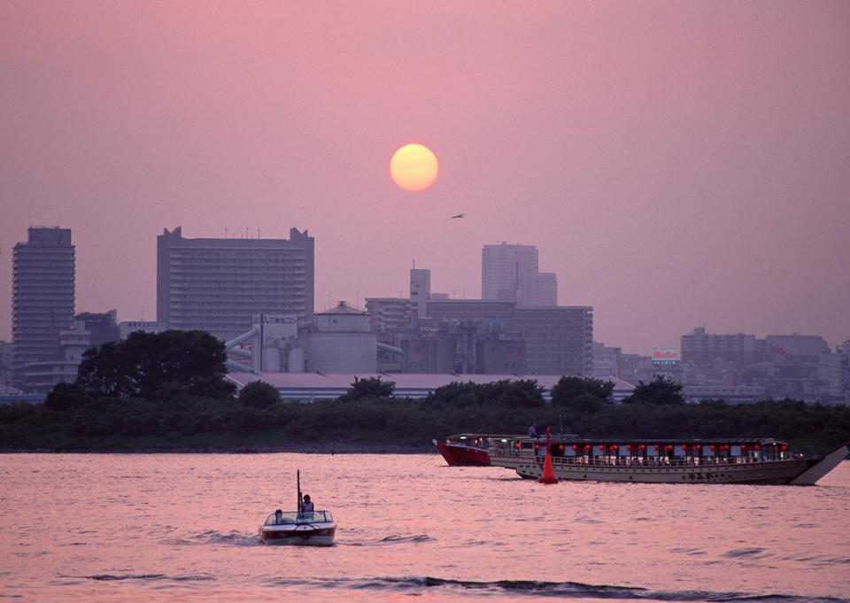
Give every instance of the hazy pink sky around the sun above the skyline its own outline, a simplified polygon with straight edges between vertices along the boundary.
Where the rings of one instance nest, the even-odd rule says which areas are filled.
[[[77,310],[156,317],[156,236],[316,237],[316,303],[481,295],[534,244],[595,339],[850,338],[850,3],[0,0],[12,246],[73,228]],[[430,189],[390,180],[404,143]],[[450,220],[455,213],[463,220]]]

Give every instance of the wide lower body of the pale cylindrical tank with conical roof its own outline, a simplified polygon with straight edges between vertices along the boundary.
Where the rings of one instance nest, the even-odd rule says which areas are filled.
[[[307,368],[322,373],[375,373],[375,333],[311,333]]]

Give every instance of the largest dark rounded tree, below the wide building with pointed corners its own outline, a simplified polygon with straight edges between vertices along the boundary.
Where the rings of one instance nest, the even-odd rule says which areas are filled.
[[[232,398],[226,359],[224,344],[206,331],[137,331],[85,352],[76,383],[95,398]]]

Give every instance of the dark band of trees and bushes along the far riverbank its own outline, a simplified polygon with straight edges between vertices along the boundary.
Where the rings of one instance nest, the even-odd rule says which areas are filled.
[[[85,353],[76,380],[43,405],[0,406],[0,446],[53,450],[233,449],[394,445],[428,450],[452,433],[524,433],[530,423],[582,437],[778,437],[810,452],[850,441],[850,409],[766,400],[686,404],[663,377],[615,404],[614,384],[565,376],[551,402],[533,379],[450,383],[426,398],[395,383],[356,379],[341,397],[283,401],[257,381],[236,393],[221,342],[201,331],[135,333]]]

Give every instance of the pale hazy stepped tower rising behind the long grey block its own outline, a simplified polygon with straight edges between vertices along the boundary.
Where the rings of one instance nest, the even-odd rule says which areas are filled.
[[[558,305],[558,281],[539,272],[534,245],[484,245],[481,251],[481,298],[519,306]]]

